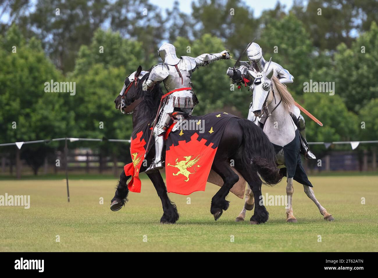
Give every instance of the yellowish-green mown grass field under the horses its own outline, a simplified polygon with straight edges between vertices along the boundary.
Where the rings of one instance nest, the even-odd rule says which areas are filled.
[[[142,192],[130,193],[129,203],[117,212],[109,209],[115,179],[70,180],[70,203],[65,180],[2,180],[0,195],[30,195],[31,206],[0,207],[0,251],[378,251],[378,177],[310,180],[317,199],[335,221],[324,221],[296,182],[293,209],[297,223],[286,223],[285,208],[279,206],[266,207],[270,219],[265,224],[249,225],[251,211],[247,211],[248,221],[234,222],[244,201],[231,193],[229,209],[215,222],[210,202],[218,186],[208,184],[206,192],[170,194],[180,219],[167,225],[159,222],[161,202],[148,179],[143,179]],[[285,195],[285,183],[263,186],[263,194],[266,192]],[[361,204],[361,197],[366,204]]]

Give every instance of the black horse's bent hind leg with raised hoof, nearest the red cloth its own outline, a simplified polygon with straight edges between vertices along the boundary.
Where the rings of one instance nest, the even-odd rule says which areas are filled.
[[[227,210],[229,207],[229,201],[226,200],[226,196],[232,186],[238,182],[239,176],[232,171],[231,166],[226,160],[214,159],[211,167],[223,180],[222,187],[211,199],[210,213],[214,216],[215,221],[217,221],[222,215],[223,210]]]

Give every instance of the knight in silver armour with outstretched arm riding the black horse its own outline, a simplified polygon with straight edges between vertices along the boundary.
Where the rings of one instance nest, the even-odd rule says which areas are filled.
[[[191,115],[193,108],[198,104],[197,97],[192,89],[192,73],[197,67],[203,67],[220,59],[229,59],[229,53],[225,50],[221,53],[202,54],[198,57],[176,56],[176,48],[170,43],[164,43],[158,50],[163,60],[162,64],[152,67],[149,77],[143,86],[152,89],[155,84],[163,81],[164,87],[169,92],[163,107],[159,111],[154,129],[155,159],[146,172],[152,172],[163,168],[162,151],[164,147],[163,134],[173,120]]]

